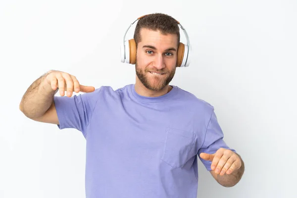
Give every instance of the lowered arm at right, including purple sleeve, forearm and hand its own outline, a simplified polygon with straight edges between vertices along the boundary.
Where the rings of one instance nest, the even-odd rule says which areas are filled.
[[[224,187],[232,187],[241,180],[245,165],[241,156],[237,154],[235,149],[229,148],[223,138],[223,131],[216,114],[212,110],[206,127],[204,142],[198,150],[198,155],[206,169],[210,171],[219,184]]]

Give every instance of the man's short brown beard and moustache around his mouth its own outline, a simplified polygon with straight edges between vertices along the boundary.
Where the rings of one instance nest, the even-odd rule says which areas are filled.
[[[135,63],[135,70],[136,70],[136,75],[139,78],[139,80],[142,82],[142,84],[149,90],[152,91],[161,91],[163,90],[173,79],[176,67],[172,71],[168,69],[149,69],[145,68],[144,70],[141,69],[137,61]],[[164,73],[162,75],[151,75],[150,72],[161,72]]]

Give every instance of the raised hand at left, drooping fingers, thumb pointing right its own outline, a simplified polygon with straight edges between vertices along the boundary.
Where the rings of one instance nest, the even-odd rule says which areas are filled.
[[[72,96],[73,91],[76,93],[95,91],[94,87],[80,85],[75,76],[61,71],[50,71],[46,77],[46,82],[52,90],[59,89],[61,96],[64,96],[65,91],[67,91],[68,97]]]

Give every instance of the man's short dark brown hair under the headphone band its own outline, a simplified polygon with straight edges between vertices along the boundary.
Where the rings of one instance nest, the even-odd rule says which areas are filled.
[[[180,32],[177,21],[167,15],[162,13],[153,13],[148,14],[141,19],[138,20],[137,25],[135,27],[134,32],[134,40],[136,46],[141,41],[140,30],[141,28],[147,28],[149,30],[159,30],[162,34],[176,34],[177,35],[177,43],[180,43]]]

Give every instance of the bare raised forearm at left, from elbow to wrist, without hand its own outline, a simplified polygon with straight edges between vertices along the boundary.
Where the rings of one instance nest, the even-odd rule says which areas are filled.
[[[19,108],[29,118],[42,116],[50,107],[56,91],[51,89],[46,77],[51,71],[42,75],[27,89]]]

